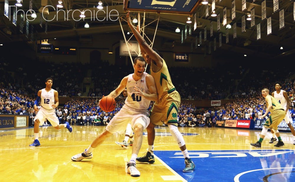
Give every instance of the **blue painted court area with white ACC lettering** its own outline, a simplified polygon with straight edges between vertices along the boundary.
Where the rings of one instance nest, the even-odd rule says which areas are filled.
[[[295,151],[273,150],[190,150],[196,165],[183,173],[181,151],[155,150],[154,154],[187,181],[295,181]]]

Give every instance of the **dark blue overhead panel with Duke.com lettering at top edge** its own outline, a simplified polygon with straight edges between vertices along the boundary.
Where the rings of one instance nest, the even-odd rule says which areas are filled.
[[[188,12],[198,0],[130,0],[129,8]]]

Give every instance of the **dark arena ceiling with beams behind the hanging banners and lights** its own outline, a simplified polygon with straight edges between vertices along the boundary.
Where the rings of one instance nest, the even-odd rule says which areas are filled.
[[[58,4],[58,0],[48,0],[47,5],[49,7],[49,15],[48,15],[48,26],[47,26],[47,34],[45,34],[45,20],[42,21],[42,28],[40,27],[40,17],[41,14],[38,10],[44,6],[44,3],[47,0],[33,0],[32,9],[36,12],[37,18],[34,21],[30,21],[30,24],[33,24],[35,39],[53,39],[53,38],[61,38],[61,39],[77,39],[77,37],[83,36],[91,36],[94,34],[121,34],[122,30],[119,24],[119,21],[98,21],[91,20],[89,17],[89,12],[97,12],[96,6],[98,5],[98,0],[62,0],[63,1],[63,10],[70,11],[70,15],[68,17],[64,17],[63,14],[56,18],[56,11],[52,7],[56,8]],[[102,0],[104,10],[107,13],[111,10],[116,10],[119,16],[125,16],[126,11],[124,11],[124,7],[126,10],[126,6],[124,6],[124,0]],[[148,0],[145,0],[148,1]],[[150,0],[156,1],[156,0]],[[173,2],[174,0],[161,0],[166,2]],[[175,0],[179,2],[180,0]],[[191,0],[194,1],[194,0]],[[217,39],[217,51],[220,54],[224,54],[225,52],[230,52],[230,54],[252,54],[266,58],[278,58],[285,55],[295,54],[295,23],[294,23],[294,1],[290,0],[279,0],[279,9],[284,9],[284,24],[285,27],[279,30],[279,12],[273,13],[273,0],[266,0],[266,16],[267,18],[271,16],[272,19],[272,34],[267,36],[267,21],[261,20],[261,3],[262,0],[246,0],[247,9],[242,11],[242,0],[235,0],[236,4],[236,18],[234,21],[231,21],[231,0],[216,0],[216,13],[220,13],[220,21],[221,21],[221,29],[217,31],[217,18],[210,16],[211,14],[211,5],[212,0],[209,0],[209,16],[205,17],[205,5],[200,4],[197,0],[195,0],[193,6],[193,12],[184,12],[179,14],[167,14],[159,11],[160,13],[150,12],[150,10],[145,10],[145,22],[146,24],[154,21],[160,16],[158,27],[157,21],[154,21],[145,29],[146,34],[153,35],[155,29],[157,28],[157,37],[162,37],[164,41],[161,41],[163,48],[171,49],[176,44],[181,44],[180,33],[176,33],[175,29],[179,27],[180,29],[184,29],[186,25],[186,20],[188,15],[191,15],[192,19],[192,27],[194,24],[194,13],[197,15],[197,29],[195,31],[192,30],[191,35],[188,36],[186,40],[184,40],[183,45],[188,47],[195,44],[195,37],[199,37],[199,32],[202,32],[202,44],[201,49],[194,49],[194,52],[202,53],[207,50],[208,45],[211,42],[211,49],[213,52],[213,39],[214,37]],[[126,1],[127,2],[127,1]],[[189,2],[189,1],[188,1]],[[9,5],[12,6],[16,3],[15,0],[9,0]],[[128,1],[130,3],[130,1]],[[18,41],[28,41],[30,39],[25,37],[26,24],[24,22],[23,33],[19,32],[19,24],[20,24],[20,13],[17,13],[17,26],[12,24],[12,16],[13,11],[10,11],[9,16],[11,19],[9,20],[4,16],[4,0],[0,0],[0,43],[5,42],[18,42]],[[29,0],[23,0],[23,6],[19,9],[27,12],[29,10]],[[233,23],[237,23],[237,38],[233,39],[233,28],[229,29],[229,43],[225,43],[226,36],[226,28],[222,26],[222,15],[223,9],[227,7],[227,23],[230,23],[233,27]],[[261,39],[257,41],[256,36],[256,26],[251,28],[250,21],[246,20],[246,28],[245,32],[242,33],[241,27],[241,19],[243,15],[250,14],[250,9],[255,7],[255,24],[260,23],[261,25]],[[19,10],[18,9],[18,10]],[[128,7],[127,7],[128,9]],[[74,11],[76,10],[76,11]],[[78,11],[79,10],[79,11]],[[84,20],[75,21],[79,19],[79,15],[81,11],[86,11],[86,17]],[[143,10],[141,10],[143,11]],[[113,11],[114,13],[114,11]],[[132,11],[132,15],[137,15],[136,11]],[[30,15],[30,13],[28,13]],[[93,15],[94,16],[94,15]],[[102,11],[98,12],[96,15],[100,20],[106,17]],[[140,16],[143,17],[143,12],[141,12]],[[124,17],[123,17],[124,18]],[[28,18],[30,19],[30,17]],[[74,20],[75,19],[75,20]],[[210,21],[213,21],[213,37],[210,37]],[[89,24],[89,28],[84,28],[85,23]],[[125,32],[129,31],[128,25],[126,22],[122,21],[122,27]],[[207,27],[207,41],[204,42],[204,27]],[[31,29],[31,28],[30,28]],[[218,46],[218,38],[219,34],[222,33],[222,47]],[[123,35],[122,35],[123,37]],[[206,47],[206,48],[205,48]],[[280,49],[283,47],[283,49]],[[190,52],[190,50],[188,51]]]

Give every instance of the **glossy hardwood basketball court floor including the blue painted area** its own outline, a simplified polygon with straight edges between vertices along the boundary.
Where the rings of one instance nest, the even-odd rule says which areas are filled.
[[[73,126],[55,130],[41,127],[41,146],[29,147],[33,128],[0,132],[0,181],[295,181],[293,136],[281,133],[284,147],[269,144],[270,132],[257,149],[249,143],[258,140],[260,130],[231,128],[179,128],[189,155],[196,164],[193,173],[183,173],[184,158],[168,127],[156,128],[155,163],[137,163],[140,177],[125,173],[132,148],[123,149],[113,135],[93,152],[93,158],[71,161],[83,152],[104,126]],[[144,133],[139,156],[147,149]]]

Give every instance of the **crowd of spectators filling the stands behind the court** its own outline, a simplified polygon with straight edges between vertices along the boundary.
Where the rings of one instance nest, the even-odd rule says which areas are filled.
[[[107,95],[120,83],[122,76],[133,72],[130,66],[116,67],[114,65],[82,65],[42,62],[44,72],[29,71],[32,64],[12,65],[1,58],[0,62],[0,113],[35,115],[33,102],[37,91],[44,88],[46,77],[53,78],[53,88],[59,96],[71,96],[64,106],[56,108],[60,123],[68,121],[78,125],[107,125],[124,104],[122,95],[117,97],[117,107],[113,112],[103,112],[98,106],[99,97]],[[93,87],[87,98],[77,97],[82,92],[81,82],[86,70],[92,70]],[[17,70],[17,71],[16,71]],[[218,119],[256,119],[266,111],[261,89],[266,87],[274,90],[275,81],[282,83],[290,98],[295,98],[295,80],[292,68],[261,70],[258,67],[241,66],[236,69],[218,68],[169,68],[173,84],[181,95],[182,102],[178,112],[180,126],[212,126]],[[293,71],[293,72],[292,72]],[[13,73],[13,74],[12,74]],[[49,73],[49,74],[48,74]],[[290,79],[291,78],[291,79]],[[206,108],[190,104],[188,100],[220,100],[232,98],[233,102],[225,105]],[[294,100],[294,99],[293,99]],[[292,100],[292,101],[293,101]],[[295,104],[295,102],[294,102]],[[153,102],[151,102],[150,108]],[[149,108],[149,109],[150,109]],[[290,106],[292,118],[295,119],[294,107]],[[32,123],[30,123],[32,125]]]

